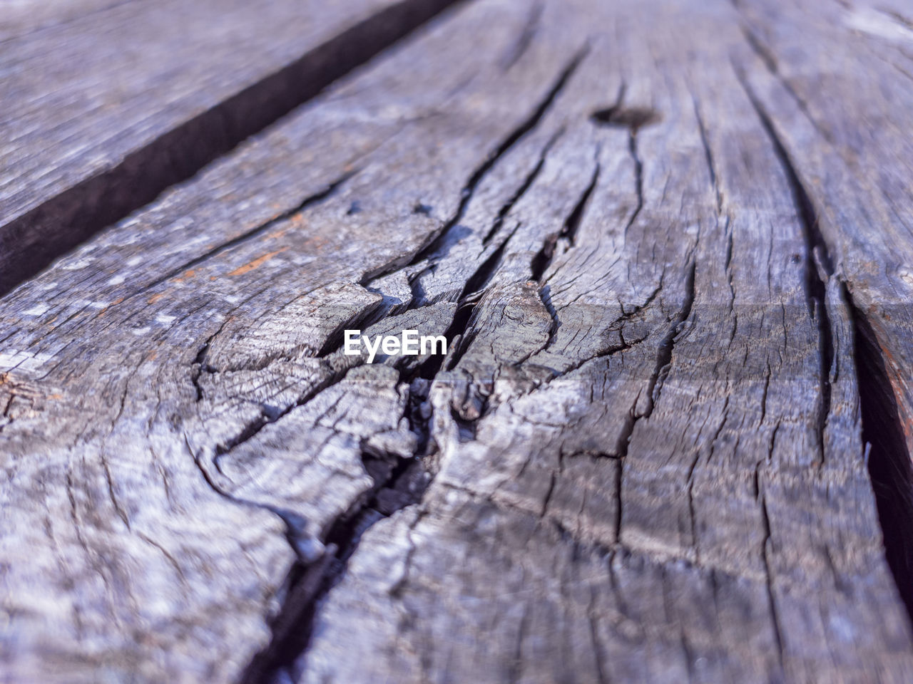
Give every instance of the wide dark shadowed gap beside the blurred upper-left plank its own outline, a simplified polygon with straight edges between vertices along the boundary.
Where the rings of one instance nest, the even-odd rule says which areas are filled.
[[[0,296],[466,0],[401,0],[0,226]]]

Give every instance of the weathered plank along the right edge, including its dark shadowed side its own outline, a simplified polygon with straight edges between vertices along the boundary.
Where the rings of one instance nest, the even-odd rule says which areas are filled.
[[[845,286],[888,560],[913,606],[913,30],[906,12],[891,3],[826,5],[824,13],[811,3],[749,5],[740,63],[753,67],[746,88],[792,168],[806,223]]]

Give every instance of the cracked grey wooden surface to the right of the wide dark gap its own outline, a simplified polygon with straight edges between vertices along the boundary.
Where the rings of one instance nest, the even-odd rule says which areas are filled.
[[[902,13],[460,5],[5,295],[8,679],[909,681]]]

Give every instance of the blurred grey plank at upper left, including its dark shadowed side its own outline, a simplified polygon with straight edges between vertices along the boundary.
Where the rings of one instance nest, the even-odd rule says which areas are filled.
[[[133,2],[5,40],[0,292],[447,4]]]

